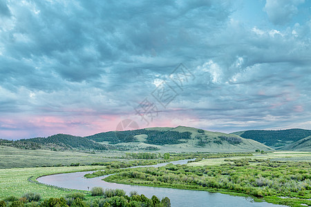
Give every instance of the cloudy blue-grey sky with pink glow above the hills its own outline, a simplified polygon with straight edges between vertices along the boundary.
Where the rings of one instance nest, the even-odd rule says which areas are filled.
[[[0,139],[311,129],[311,1],[0,0]]]

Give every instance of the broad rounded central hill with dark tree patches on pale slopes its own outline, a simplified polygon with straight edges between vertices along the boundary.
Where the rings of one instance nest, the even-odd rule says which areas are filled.
[[[144,128],[102,132],[86,137],[102,144],[127,146],[132,149],[158,148],[162,152],[249,152],[273,150],[252,139],[198,128]]]

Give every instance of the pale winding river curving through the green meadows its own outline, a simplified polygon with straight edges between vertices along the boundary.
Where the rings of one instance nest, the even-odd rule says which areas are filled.
[[[179,160],[179,161],[171,161],[171,164],[187,164],[189,159]],[[159,167],[165,166],[169,163],[156,164],[153,166],[135,166],[137,167]],[[240,207],[240,206],[280,206],[274,204],[268,204],[267,202],[254,202],[251,198],[245,197],[237,197],[232,195],[225,195],[221,193],[209,193],[206,191],[200,190],[180,190],[174,188],[156,188],[149,186],[132,186],[125,184],[114,184],[103,181],[105,177],[109,175],[105,175],[102,177],[94,177],[91,179],[84,178],[86,173],[88,172],[73,172],[73,173],[64,173],[57,175],[48,175],[44,177],[39,177],[37,181],[42,184],[48,184],[53,186],[59,186],[62,188],[70,188],[77,190],[88,190],[88,188],[93,188],[95,186],[100,186],[102,188],[119,188],[126,191],[126,193],[135,190],[138,194],[144,194],[147,197],[151,198],[153,195],[156,195],[159,199],[162,197],[169,197],[171,200],[171,206],[221,206],[221,207]]]

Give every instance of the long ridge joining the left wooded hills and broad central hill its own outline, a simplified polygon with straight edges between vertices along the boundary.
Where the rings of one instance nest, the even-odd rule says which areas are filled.
[[[161,152],[254,152],[272,148],[252,139],[222,132],[210,132],[186,126],[144,128],[139,130],[101,132],[78,137],[57,134],[8,141],[0,145],[21,149],[48,150],[160,150]]]

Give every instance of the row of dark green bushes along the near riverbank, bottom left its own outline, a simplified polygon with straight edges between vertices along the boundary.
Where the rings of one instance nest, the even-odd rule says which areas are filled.
[[[10,196],[0,200],[0,207],[169,207],[171,201],[164,197],[161,201],[153,195],[151,199],[131,191],[129,196],[124,190],[94,187],[91,195],[84,193],[70,193],[65,197],[41,199],[39,193],[25,193],[22,197]]]

